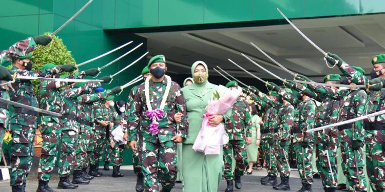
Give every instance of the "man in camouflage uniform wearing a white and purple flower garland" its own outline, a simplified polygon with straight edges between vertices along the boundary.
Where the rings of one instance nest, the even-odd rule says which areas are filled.
[[[186,107],[181,88],[165,75],[167,70],[165,57],[163,55],[152,57],[147,67],[151,77],[146,78],[145,84],[138,86],[130,108],[128,118],[130,146],[133,149],[137,148],[135,137],[140,131],[143,136],[141,153],[144,190],[159,191],[157,178],[159,167],[162,191],[170,191],[175,184],[177,173],[176,143],[182,142],[182,138],[186,138],[187,135]],[[165,103],[162,103],[163,100]],[[141,130],[138,130],[139,123]],[[178,129],[176,123],[179,123]]]

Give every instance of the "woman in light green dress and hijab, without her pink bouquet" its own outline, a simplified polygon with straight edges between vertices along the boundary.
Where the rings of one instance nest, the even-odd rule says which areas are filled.
[[[223,175],[224,164],[222,150],[218,155],[205,155],[202,152],[193,150],[192,145],[201,130],[207,102],[211,100],[218,86],[208,82],[207,65],[203,61],[196,61],[192,65],[191,74],[194,82],[182,88],[187,115],[190,121],[188,134],[183,141],[182,147],[184,191],[216,192]],[[230,111],[227,111],[224,115],[209,116],[209,125],[216,126],[224,122],[225,119],[230,117]]]

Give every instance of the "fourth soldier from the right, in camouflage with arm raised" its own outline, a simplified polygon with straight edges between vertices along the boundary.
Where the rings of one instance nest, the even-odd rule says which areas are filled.
[[[269,82],[267,88],[278,91],[286,101],[295,103],[292,94]],[[301,92],[302,100],[296,105],[293,124],[293,143],[297,155],[298,172],[302,180],[302,188],[298,192],[311,192],[313,184],[312,172],[312,150],[314,146],[313,135],[306,133],[314,127],[314,118],[316,113],[315,102],[307,96],[307,92]]]

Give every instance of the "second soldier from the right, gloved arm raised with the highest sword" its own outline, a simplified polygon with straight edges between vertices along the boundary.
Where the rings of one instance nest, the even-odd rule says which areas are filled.
[[[326,60],[337,65],[343,75],[347,76],[350,84],[366,84],[367,78],[360,67],[351,67],[337,55],[328,53]],[[362,116],[367,100],[367,93],[359,88],[351,88],[340,96],[340,109],[335,111],[332,119],[337,122]],[[367,191],[363,173],[363,122],[356,121],[338,127],[342,154],[342,169],[348,178],[351,191]],[[358,173],[357,173],[358,170]]]

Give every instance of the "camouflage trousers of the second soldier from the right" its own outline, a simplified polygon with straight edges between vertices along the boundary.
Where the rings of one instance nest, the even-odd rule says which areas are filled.
[[[342,170],[348,178],[351,191],[367,191],[367,183],[363,173],[363,147],[356,152],[352,149],[352,142],[341,142]],[[357,162],[355,161],[355,154]],[[358,169],[358,173],[357,173]],[[361,183],[358,182],[360,177]],[[362,188],[360,188],[360,185]]]

